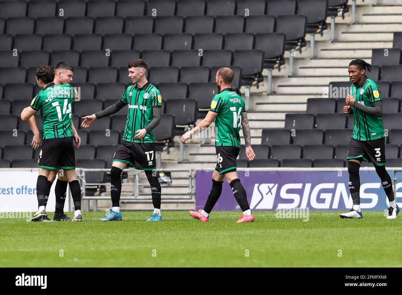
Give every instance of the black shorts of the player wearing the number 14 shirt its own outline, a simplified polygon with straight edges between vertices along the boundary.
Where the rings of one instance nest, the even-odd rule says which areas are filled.
[[[73,136],[48,138],[43,140],[39,152],[38,167],[56,170],[75,169]]]

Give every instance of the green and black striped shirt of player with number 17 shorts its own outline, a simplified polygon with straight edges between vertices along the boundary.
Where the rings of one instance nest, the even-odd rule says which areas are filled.
[[[128,104],[127,123],[124,128],[123,140],[131,142],[155,142],[151,130],[142,139],[134,138],[135,131],[144,129],[154,118],[153,107],[162,107],[162,96],[159,90],[150,82],[141,88],[137,84],[129,86],[120,100]]]

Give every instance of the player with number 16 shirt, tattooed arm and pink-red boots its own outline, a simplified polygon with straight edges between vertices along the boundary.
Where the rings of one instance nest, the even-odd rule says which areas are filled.
[[[244,108],[244,100],[234,90],[232,81],[234,73],[228,67],[220,68],[216,72],[216,85],[219,93],[212,98],[211,108],[207,116],[192,130],[181,137],[181,142],[207,128],[215,120],[216,137],[215,150],[217,165],[212,174],[212,188],[209,192],[207,203],[203,210],[190,211],[190,215],[198,220],[207,222],[213,206],[222,193],[224,178],[232,188],[233,195],[243,211],[242,216],[236,222],[253,222],[254,216],[247,201],[246,190],[240,183],[236,169],[236,158],[240,152],[240,125],[243,128],[243,136],[246,144],[246,157],[252,161],[255,157],[251,148],[250,126],[248,125],[247,113]]]

